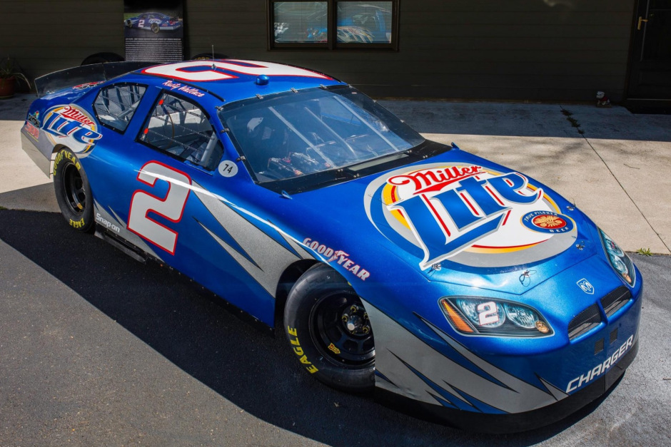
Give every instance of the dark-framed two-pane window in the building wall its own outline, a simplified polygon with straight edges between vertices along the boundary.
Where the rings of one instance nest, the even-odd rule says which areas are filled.
[[[268,0],[269,48],[398,49],[398,0]]]

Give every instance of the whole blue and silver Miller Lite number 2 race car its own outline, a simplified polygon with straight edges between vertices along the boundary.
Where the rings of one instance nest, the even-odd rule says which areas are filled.
[[[66,222],[277,321],[306,374],[510,432],[593,401],[634,359],[639,272],[538,181],[303,68],[105,73],[38,79],[21,129]]]

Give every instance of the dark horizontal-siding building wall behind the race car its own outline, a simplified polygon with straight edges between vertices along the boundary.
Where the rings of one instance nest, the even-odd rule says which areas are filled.
[[[400,0],[399,51],[267,49],[266,1],[185,0],[186,53],[307,66],[374,96],[619,101],[635,0]],[[123,55],[122,0],[0,0],[0,54],[29,76]]]

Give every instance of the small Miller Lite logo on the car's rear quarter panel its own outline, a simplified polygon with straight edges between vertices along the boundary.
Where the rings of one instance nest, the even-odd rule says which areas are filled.
[[[98,125],[89,113],[77,106],[56,106],[42,119],[42,130],[54,145],[63,144],[81,158],[102,138]]]

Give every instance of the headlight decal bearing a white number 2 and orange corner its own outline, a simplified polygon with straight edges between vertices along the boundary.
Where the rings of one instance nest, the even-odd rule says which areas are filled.
[[[462,334],[540,337],[554,333],[540,312],[503,299],[441,298],[440,309],[452,327]]]

